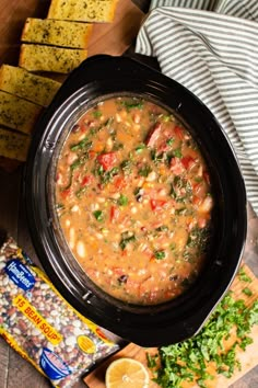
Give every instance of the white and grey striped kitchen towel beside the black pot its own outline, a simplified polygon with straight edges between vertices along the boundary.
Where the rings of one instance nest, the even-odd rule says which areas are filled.
[[[155,56],[163,73],[214,114],[258,214],[257,22],[257,0],[153,0],[136,52]]]

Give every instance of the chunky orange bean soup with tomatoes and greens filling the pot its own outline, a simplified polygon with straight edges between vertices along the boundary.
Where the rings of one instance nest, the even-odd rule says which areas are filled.
[[[115,298],[161,304],[201,271],[209,171],[189,132],[152,102],[114,98],[80,118],[60,152],[56,203],[73,255]]]

